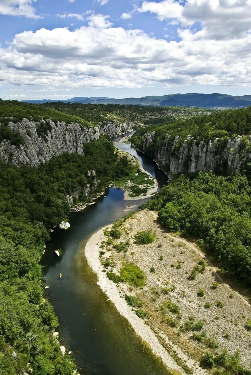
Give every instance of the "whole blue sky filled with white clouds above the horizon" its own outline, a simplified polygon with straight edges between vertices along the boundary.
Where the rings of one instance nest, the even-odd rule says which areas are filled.
[[[0,0],[0,98],[251,95],[251,0]]]

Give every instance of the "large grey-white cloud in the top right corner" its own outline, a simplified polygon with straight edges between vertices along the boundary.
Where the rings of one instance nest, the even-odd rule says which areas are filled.
[[[139,12],[155,13],[160,21],[172,20],[183,27],[195,22],[201,24],[197,38],[233,39],[244,36],[251,30],[250,0],[164,0],[143,1]]]

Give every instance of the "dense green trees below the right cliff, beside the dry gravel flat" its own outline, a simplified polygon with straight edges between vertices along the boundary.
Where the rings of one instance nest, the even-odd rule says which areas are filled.
[[[199,239],[218,264],[251,287],[251,186],[243,174],[181,175],[146,206],[162,225]]]

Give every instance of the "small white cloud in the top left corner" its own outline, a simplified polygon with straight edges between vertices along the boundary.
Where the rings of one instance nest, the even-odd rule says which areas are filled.
[[[0,14],[9,16],[25,16],[41,18],[35,14],[32,3],[36,0],[0,0]]]

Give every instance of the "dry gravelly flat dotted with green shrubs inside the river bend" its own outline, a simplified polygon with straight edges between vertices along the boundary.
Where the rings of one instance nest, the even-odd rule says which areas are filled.
[[[114,239],[113,244],[129,240],[128,251],[118,252],[112,248],[113,244],[107,248],[101,242],[110,237],[100,238],[97,245],[103,249],[99,251],[105,252],[99,256],[103,272],[119,275],[123,265],[131,262],[143,270],[146,275],[144,286],[119,282],[118,291],[123,297],[135,296],[142,302],[140,309],[147,314],[143,317],[146,324],[174,357],[175,351],[163,339],[165,336],[197,363],[205,353],[219,354],[226,347],[233,355],[239,349],[240,363],[249,368],[251,331],[246,322],[251,318],[250,305],[218,279],[207,261],[203,266],[201,255],[190,247],[195,244],[184,243],[178,237],[172,239],[155,217],[152,211],[139,211],[119,226],[122,236],[119,240]],[[137,232],[149,229],[155,235],[155,242],[136,244]],[[193,269],[194,279],[191,277]],[[213,288],[215,282],[219,285],[215,284]],[[186,363],[189,365],[191,361]]]

